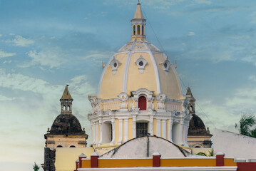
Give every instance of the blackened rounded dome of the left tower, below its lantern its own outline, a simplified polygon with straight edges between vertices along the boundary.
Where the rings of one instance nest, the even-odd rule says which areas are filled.
[[[54,120],[50,130],[51,135],[85,134],[79,120],[72,114],[60,114]]]

